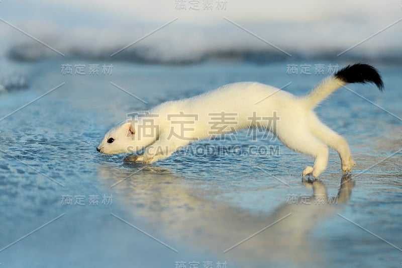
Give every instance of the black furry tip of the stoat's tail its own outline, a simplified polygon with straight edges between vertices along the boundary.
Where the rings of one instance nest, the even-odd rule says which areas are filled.
[[[374,83],[380,91],[384,90],[378,70],[369,64],[348,65],[335,73],[335,77],[347,83]]]

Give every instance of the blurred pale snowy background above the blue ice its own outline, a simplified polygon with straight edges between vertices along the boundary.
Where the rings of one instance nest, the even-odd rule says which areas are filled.
[[[396,61],[401,57],[401,3],[375,1],[267,2],[2,1],[1,18],[62,52],[65,57],[108,58],[174,20],[157,34],[115,55],[137,62],[180,63],[229,58],[267,63],[292,57]],[[225,19],[226,18],[226,19]],[[231,23],[232,22],[232,23]],[[4,22],[3,22],[4,23]],[[240,29],[243,27],[271,46]],[[395,24],[394,26],[390,26]],[[384,28],[390,26],[388,29]],[[4,24],[3,56],[36,60],[59,56]]]

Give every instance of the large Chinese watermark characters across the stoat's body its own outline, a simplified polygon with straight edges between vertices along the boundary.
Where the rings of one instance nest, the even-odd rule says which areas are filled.
[[[220,135],[220,140],[236,141],[235,135],[240,121],[242,124],[240,128],[248,129],[246,137],[251,138],[252,141],[256,141],[257,138],[274,141],[276,136],[272,133],[276,133],[280,120],[276,111],[273,111],[272,114],[264,115],[257,114],[255,111],[250,112],[246,120],[239,118],[238,113],[225,111],[204,115],[180,111],[175,114],[167,114],[165,117],[160,118],[158,114],[151,114],[148,111],[135,112],[127,114],[127,122],[131,122],[134,129],[137,130],[136,140],[157,137],[159,134],[159,122],[162,121],[165,124],[167,121],[169,124],[169,130],[166,132],[168,140],[197,141],[203,139],[205,138],[204,134],[199,134],[196,128],[204,128],[205,125],[208,125],[207,133],[211,140]]]

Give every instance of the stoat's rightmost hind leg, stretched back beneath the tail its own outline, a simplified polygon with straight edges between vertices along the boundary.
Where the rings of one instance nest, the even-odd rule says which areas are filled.
[[[344,173],[352,171],[352,167],[356,164],[352,159],[350,148],[346,140],[320,122],[316,115],[311,115],[309,121],[312,133],[322,142],[339,153],[342,162],[342,171]]]

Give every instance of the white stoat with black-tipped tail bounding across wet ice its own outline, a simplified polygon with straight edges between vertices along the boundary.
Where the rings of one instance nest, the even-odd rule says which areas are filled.
[[[145,149],[132,160],[151,163],[170,156],[190,141],[263,127],[290,149],[315,157],[314,165],[307,166],[303,176],[312,174],[317,178],[324,171],[328,146],[339,153],[342,171],[346,173],[355,165],[347,142],[321,123],[313,109],[339,87],[366,82],[375,83],[380,91],[383,89],[378,71],[368,64],[357,63],[326,78],[303,97],[256,82],[227,84],[199,96],[162,103],[145,116],[108,131],[96,149],[107,154]],[[214,116],[225,113],[234,119],[229,126],[217,127],[211,122]],[[257,122],[255,118],[275,119]],[[150,125],[152,129],[146,130]]]

